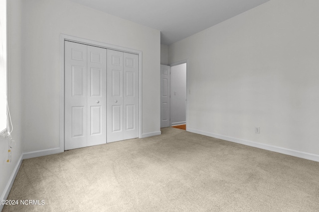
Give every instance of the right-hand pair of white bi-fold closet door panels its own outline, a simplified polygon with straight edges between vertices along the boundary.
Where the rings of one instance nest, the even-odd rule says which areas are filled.
[[[107,50],[107,142],[138,137],[138,56]]]

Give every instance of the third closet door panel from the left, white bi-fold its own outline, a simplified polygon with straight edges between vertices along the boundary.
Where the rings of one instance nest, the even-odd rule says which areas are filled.
[[[107,50],[107,142],[123,140],[123,52]]]

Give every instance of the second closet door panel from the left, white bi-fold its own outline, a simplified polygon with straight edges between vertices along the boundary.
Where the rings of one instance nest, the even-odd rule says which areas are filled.
[[[106,143],[106,49],[87,46],[87,146]]]

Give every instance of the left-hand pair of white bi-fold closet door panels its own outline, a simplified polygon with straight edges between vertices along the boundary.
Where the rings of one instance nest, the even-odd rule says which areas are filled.
[[[65,150],[106,143],[106,49],[65,42]]]

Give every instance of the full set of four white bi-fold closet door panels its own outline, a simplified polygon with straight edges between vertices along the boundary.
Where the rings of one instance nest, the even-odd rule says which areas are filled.
[[[138,56],[65,41],[65,150],[138,137]]]

